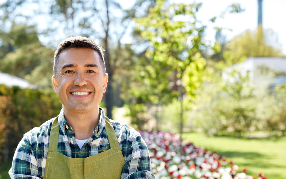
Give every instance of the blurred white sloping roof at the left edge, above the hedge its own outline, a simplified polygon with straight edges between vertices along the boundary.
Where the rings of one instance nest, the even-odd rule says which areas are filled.
[[[19,86],[20,88],[38,88],[36,85],[29,84],[27,80],[2,72],[0,72],[0,84],[4,84],[9,87]]]

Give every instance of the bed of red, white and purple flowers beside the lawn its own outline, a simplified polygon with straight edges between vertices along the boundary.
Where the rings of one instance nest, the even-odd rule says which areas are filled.
[[[177,134],[139,131],[146,142],[155,178],[161,179],[255,179],[230,160],[190,142],[182,142]],[[180,147],[182,146],[182,147]],[[258,174],[257,179],[266,179]]]

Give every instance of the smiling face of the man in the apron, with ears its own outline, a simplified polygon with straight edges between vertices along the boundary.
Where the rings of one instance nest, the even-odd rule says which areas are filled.
[[[70,48],[60,53],[55,92],[70,112],[97,110],[108,81],[99,54],[89,48]]]

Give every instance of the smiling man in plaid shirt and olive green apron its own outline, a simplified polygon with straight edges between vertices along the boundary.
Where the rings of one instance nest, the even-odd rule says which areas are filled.
[[[24,135],[11,178],[154,178],[140,134],[108,119],[99,107],[108,74],[94,41],[69,37],[60,42],[52,81],[63,108]]]

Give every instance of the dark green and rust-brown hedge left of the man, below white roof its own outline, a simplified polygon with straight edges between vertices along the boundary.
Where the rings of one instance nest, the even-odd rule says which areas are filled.
[[[0,159],[13,157],[23,134],[56,117],[61,105],[54,91],[0,85]]]

